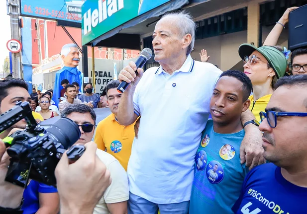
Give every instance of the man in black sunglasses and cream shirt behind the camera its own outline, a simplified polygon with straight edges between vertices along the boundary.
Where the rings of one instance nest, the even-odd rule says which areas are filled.
[[[72,104],[63,110],[61,117],[78,124],[81,136],[75,144],[84,145],[92,141],[96,125],[96,114],[92,108],[84,104]],[[129,187],[126,171],[112,155],[100,149],[97,149],[96,154],[109,170],[112,183],[96,205],[94,214],[127,214]]]

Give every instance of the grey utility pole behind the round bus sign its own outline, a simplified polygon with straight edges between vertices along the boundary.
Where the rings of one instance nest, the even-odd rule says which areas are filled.
[[[19,4],[18,0],[9,0],[9,16],[10,16],[10,34],[12,39],[20,41],[19,30]],[[22,78],[21,73],[21,51],[12,53],[12,76],[13,78]]]

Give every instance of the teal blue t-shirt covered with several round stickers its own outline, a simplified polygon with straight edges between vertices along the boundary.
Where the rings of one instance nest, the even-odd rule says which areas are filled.
[[[208,120],[195,157],[190,214],[233,214],[248,168],[240,164],[244,129],[219,134]]]

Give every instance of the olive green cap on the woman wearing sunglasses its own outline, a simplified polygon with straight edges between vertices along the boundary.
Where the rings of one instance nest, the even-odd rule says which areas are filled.
[[[245,56],[250,56],[255,50],[259,51],[268,60],[278,78],[285,75],[288,65],[287,59],[284,53],[275,47],[261,46],[257,48],[251,44],[241,44],[239,47],[239,55],[241,59],[244,59]]]

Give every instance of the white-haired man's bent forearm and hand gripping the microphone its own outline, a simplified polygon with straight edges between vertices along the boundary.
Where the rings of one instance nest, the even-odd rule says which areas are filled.
[[[118,75],[120,82],[125,81],[130,83],[125,92],[121,95],[118,105],[117,120],[121,125],[128,126],[137,119],[139,115],[134,113],[133,95],[137,83],[143,76],[143,69],[138,68],[135,74],[136,65],[134,62],[129,62],[129,65],[124,67]]]

